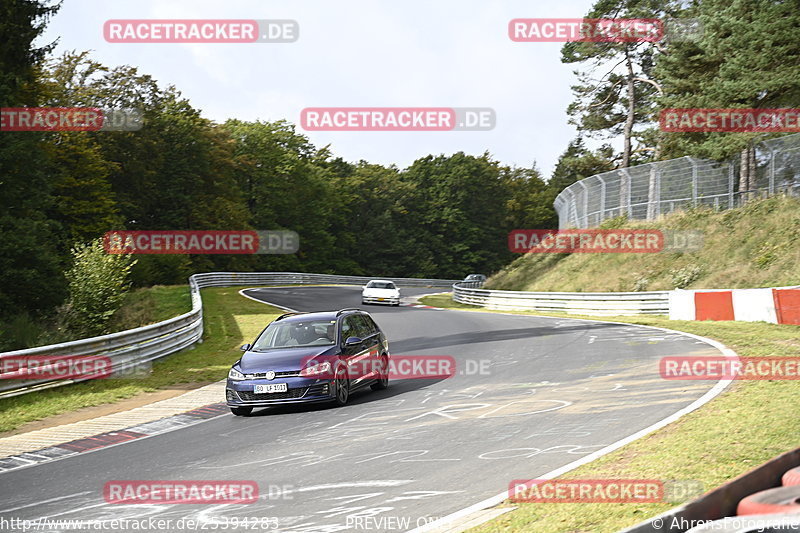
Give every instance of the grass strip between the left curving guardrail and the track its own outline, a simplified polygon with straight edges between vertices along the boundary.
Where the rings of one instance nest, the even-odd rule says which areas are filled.
[[[181,291],[173,287],[157,290],[155,298],[163,307],[155,320],[169,318],[183,308]],[[242,298],[238,288],[203,289],[204,342],[153,363],[153,372],[144,378],[98,379],[57,387],[32,394],[0,399],[0,432],[13,430],[26,422],[131,398],[181,384],[205,384],[223,379],[240,356],[238,347],[253,338],[273,318],[284,311]],[[222,401],[223,398],[220,398]]]

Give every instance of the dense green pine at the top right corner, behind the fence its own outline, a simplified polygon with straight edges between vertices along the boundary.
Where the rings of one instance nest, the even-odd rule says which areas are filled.
[[[703,0],[684,16],[703,32],[657,65],[665,108],[781,108],[800,101],[800,9],[782,0]],[[740,190],[755,185],[757,133],[670,133],[665,155],[741,156]]]

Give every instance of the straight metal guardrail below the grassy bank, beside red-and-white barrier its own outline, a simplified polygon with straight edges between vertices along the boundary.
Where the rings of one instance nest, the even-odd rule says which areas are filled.
[[[594,316],[669,314],[669,291],[496,291],[457,282],[453,284],[453,300],[501,311],[543,311]]]

